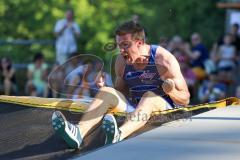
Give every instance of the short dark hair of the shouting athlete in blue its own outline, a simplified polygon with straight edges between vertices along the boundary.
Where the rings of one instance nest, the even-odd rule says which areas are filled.
[[[125,34],[131,34],[132,39],[134,40],[145,41],[144,28],[140,24],[134,23],[133,21],[125,22],[115,30],[115,35],[122,36]]]

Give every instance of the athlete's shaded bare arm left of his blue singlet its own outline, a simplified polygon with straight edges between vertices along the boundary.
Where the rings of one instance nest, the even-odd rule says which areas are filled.
[[[127,96],[128,90],[123,79],[125,66],[126,66],[126,63],[124,58],[122,57],[122,55],[119,55],[115,63],[116,80],[115,80],[114,88],[120,91],[125,96]]]

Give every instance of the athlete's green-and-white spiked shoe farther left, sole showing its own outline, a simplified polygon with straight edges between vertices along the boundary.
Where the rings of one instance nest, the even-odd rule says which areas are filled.
[[[82,136],[79,127],[68,122],[61,112],[53,112],[52,126],[56,133],[67,142],[70,148],[80,148]]]

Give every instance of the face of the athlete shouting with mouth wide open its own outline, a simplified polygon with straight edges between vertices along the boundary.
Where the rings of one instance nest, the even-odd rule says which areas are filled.
[[[120,54],[125,58],[127,63],[134,63],[139,58],[140,47],[143,45],[141,40],[133,40],[131,34],[116,36],[116,42]]]

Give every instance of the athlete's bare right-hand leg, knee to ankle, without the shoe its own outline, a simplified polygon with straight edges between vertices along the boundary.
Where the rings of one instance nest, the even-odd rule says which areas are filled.
[[[127,117],[126,122],[119,128],[121,131],[120,140],[126,138],[134,131],[143,127],[153,111],[162,111],[166,109],[167,102],[153,92],[146,92],[137,109]]]

